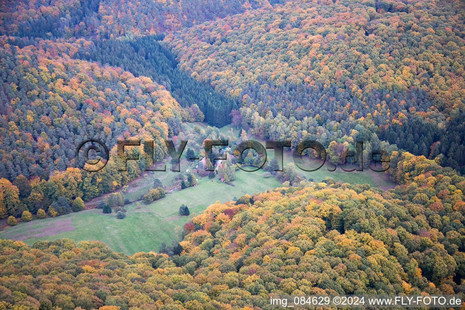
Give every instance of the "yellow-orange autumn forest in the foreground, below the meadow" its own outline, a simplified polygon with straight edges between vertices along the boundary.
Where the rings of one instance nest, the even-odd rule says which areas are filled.
[[[279,294],[465,293],[465,178],[310,183],[210,205],[178,255],[0,241],[0,298],[27,309],[270,309]],[[103,307],[103,308],[102,308]]]

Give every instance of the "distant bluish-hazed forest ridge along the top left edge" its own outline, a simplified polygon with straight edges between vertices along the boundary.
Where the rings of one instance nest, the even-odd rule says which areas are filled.
[[[2,1],[0,35],[110,39],[156,34],[241,13],[252,6],[257,6],[253,0]]]

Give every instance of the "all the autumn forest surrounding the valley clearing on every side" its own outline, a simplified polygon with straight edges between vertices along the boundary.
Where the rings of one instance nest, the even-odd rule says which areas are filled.
[[[213,158],[237,156],[251,135],[316,140],[335,165],[364,141],[355,162],[366,169],[385,151],[398,186],[314,183],[274,160],[263,169],[280,187],[190,218],[182,204],[182,237],[159,253],[0,240],[0,310],[266,310],[270,293],[465,298],[464,16],[460,0],[1,1],[4,226],[83,210],[167,158],[167,139],[189,140],[184,158],[206,158],[194,173],[226,183],[236,162],[259,157],[207,171]],[[87,138],[109,147],[98,172],[76,158]],[[120,138],[153,140],[152,158],[143,145],[118,158]],[[209,155],[205,139],[230,148]],[[153,185],[146,203],[166,199]],[[120,192],[99,207],[123,204]]]

